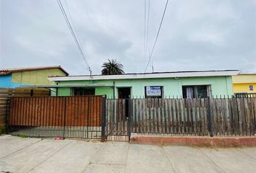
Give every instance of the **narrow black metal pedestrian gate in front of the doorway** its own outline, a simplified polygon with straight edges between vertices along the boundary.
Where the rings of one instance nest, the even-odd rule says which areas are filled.
[[[130,99],[106,99],[105,138],[107,141],[129,141],[130,104]]]

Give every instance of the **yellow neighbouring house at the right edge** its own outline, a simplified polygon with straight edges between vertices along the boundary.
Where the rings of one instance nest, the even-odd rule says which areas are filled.
[[[234,94],[256,93],[256,74],[232,76]]]

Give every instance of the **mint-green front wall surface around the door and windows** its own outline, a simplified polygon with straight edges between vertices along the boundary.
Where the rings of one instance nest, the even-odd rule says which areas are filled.
[[[58,85],[88,85],[102,84],[95,86],[95,95],[106,94],[108,98],[117,98],[119,87],[131,87],[132,97],[145,97],[145,86],[163,86],[164,97],[182,97],[182,86],[210,85],[213,96],[233,94],[231,76],[209,76],[209,77],[182,77],[162,79],[115,79],[115,80],[89,80],[89,81],[58,81]],[[114,85],[114,87],[112,87]],[[59,96],[69,96],[71,88],[59,88]]]

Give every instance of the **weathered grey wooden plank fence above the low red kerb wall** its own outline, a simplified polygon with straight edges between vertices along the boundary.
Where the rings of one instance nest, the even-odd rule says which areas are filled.
[[[131,99],[132,133],[254,136],[256,98]]]

